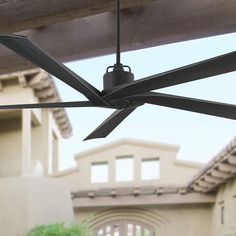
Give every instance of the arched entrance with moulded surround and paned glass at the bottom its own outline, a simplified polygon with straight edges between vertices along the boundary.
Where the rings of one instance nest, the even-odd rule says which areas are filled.
[[[94,236],[169,235],[169,220],[148,208],[124,207],[97,211],[87,221]]]

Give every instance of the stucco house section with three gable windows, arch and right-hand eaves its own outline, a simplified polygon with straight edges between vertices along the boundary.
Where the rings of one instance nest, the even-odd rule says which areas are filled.
[[[123,139],[77,154],[77,167],[56,177],[96,236],[234,235],[235,148],[233,140],[202,166],[176,159],[177,146]],[[106,178],[96,182],[96,168]]]

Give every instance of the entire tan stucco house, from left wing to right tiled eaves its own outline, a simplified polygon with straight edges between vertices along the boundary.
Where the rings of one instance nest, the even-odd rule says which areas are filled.
[[[41,70],[0,77],[0,102],[60,101]],[[94,236],[234,236],[236,139],[207,165],[171,144],[121,139],[75,155],[59,171],[63,109],[0,111],[0,235],[86,222]],[[14,148],[13,148],[14,147]]]

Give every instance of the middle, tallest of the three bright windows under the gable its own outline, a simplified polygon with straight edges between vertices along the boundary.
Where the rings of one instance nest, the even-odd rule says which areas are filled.
[[[134,178],[133,157],[118,157],[116,159],[116,181],[132,181]]]

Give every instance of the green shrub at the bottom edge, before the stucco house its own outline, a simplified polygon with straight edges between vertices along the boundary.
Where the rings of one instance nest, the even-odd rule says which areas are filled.
[[[27,236],[90,236],[85,225],[50,224],[40,225],[32,229]]]

